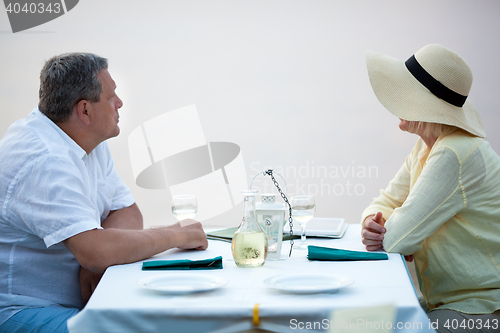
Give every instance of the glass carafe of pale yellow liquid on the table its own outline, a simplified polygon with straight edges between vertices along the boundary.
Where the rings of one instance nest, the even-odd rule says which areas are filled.
[[[233,236],[231,249],[238,267],[260,267],[267,257],[267,236],[257,223],[256,190],[243,193],[243,220]]]

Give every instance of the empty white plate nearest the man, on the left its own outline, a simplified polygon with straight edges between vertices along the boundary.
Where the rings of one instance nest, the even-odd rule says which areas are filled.
[[[220,288],[227,280],[207,274],[171,274],[150,276],[137,283],[159,294],[188,294]]]

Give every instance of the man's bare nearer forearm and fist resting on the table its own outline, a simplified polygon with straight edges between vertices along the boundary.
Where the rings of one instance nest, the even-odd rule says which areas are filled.
[[[68,238],[64,244],[81,266],[93,272],[144,260],[171,248],[205,250],[208,247],[201,223],[194,220],[147,230],[93,229]]]

